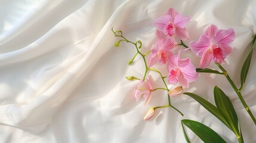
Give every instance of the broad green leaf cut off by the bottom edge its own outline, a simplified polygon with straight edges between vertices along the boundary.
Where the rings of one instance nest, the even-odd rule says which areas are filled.
[[[209,128],[208,126],[203,125],[202,123],[193,121],[193,120],[181,120],[181,123],[186,125],[189,129],[191,129],[199,138],[202,139],[203,142],[207,143],[223,143],[226,142],[223,138],[221,138],[218,133]]]

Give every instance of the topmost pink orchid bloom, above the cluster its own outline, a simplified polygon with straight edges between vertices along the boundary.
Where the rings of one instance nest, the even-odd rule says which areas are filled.
[[[153,25],[169,36],[176,35],[178,39],[189,40],[189,33],[184,28],[189,21],[190,16],[178,14],[174,8],[169,8],[166,15],[153,21]]]

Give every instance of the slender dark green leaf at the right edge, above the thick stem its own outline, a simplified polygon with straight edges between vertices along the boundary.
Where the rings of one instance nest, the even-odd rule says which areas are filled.
[[[252,51],[253,51],[255,45],[256,45],[256,35],[254,36],[254,40],[252,42],[251,50],[249,51],[248,55],[246,56],[245,61],[243,62],[241,72],[240,72],[240,81],[241,81],[241,88],[240,89],[243,88],[243,83],[245,83],[245,79],[246,79],[246,76],[248,74],[249,67],[250,67],[250,64],[251,64]]]

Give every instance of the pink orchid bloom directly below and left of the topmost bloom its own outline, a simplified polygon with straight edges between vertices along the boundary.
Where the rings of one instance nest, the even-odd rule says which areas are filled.
[[[156,30],[156,43],[152,46],[151,54],[147,58],[147,66],[152,67],[156,64],[156,61],[166,64],[168,58],[172,55],[170,51],[172,48],[174,48],[174,38],[166,38],[164,32]]]

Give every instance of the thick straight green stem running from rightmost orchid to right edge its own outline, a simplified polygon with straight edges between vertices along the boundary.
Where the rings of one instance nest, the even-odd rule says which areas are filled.
[[[245,100],[243,99],[243,96],[241,94],[241,92],[239,91],[239,89],[236,87],[235,83],[233,82],[233,80],[229,77],[229,74],[227,73],[227,71],[218,63],[215,63],[221,71],[223,71],[224,76],[226,76],[227,80],[229,81],[230,85],[232,86],[232,88],[235,90],[236,94],[239,97],[239,100],[242,102],[243,107],[245,107],[245,110],[248,112],[249,116],[251,117],[252,121],[254,122],[254,124],[256,125],[256,119],[254,117],[254,115],[252,114],[250,108],[248,107],[248,105],[246,104]]]

